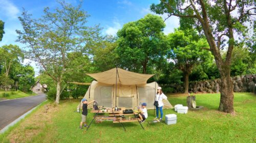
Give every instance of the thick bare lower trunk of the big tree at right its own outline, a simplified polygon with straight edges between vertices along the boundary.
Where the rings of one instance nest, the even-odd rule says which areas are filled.
[[[227,67],[226,69],[220,71],[221,73],[221,99],[220,99],[220,106],[219,111],[227,112],[227,113],[234,113],[233,108],[233,84],[232,79],[230,78],[230,68]]]

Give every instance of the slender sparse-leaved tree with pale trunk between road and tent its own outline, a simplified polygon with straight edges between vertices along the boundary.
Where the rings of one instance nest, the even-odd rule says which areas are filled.
[[[56,104],[59,103],[63,75],[82,67],[69,69],[76,56],[68,58],[68,54],[86,53],[87,44],[96,41],[99,35],[98,26],[86,26],[89,15],[81,10],[81,3],[77,6],[65,1],[58,3],[60,7],[55,11],[45,8],[44,16],[39,19],[32,19],[24,10],[22,17],[18,17],[24,30],[16,30],[17,41],[27,45],[28,58],[39,63],[56,81]]]

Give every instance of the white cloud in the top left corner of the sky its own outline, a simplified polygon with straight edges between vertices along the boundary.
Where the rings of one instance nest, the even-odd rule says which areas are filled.
[[[10,18],[17,18],[18,8],[7,0],[0,0],[0,13]]]

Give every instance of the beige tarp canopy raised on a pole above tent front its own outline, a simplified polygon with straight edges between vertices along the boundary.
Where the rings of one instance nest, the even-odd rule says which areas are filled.
[[[134,85],[134,84],[146,84],[148,78],[155,74],[141,74],[126,71],[120,68],[114,68],[108,71],[100,73],[87,74],[99,82],[106,84],[123,84],[123,85]]]

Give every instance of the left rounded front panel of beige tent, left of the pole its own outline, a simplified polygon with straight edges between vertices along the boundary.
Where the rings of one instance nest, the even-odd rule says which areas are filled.
[[[112,86],[98,86],[94,90],[94,100],[99,106],[112,107]]]

